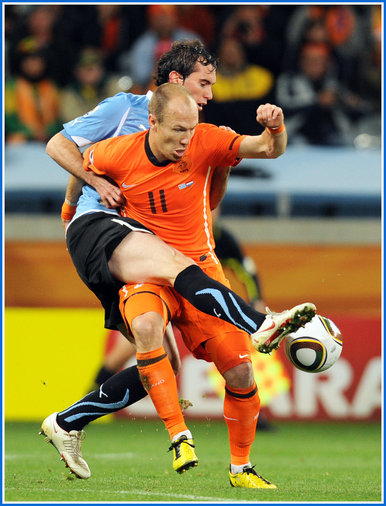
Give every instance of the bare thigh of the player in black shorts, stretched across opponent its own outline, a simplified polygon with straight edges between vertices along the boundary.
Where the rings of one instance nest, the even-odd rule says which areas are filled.
[[[193,260],[159,237],[131,232],[115,248],[109,260],[113,276],[124,283],[161,283],[172,286],[176,276]]]

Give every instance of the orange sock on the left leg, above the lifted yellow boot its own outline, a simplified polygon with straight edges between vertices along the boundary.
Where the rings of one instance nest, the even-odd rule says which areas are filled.
[[[177,394],[177,382],[163,346],[147,353],[137,353],[142,385],[153,401],[170,439],[187,430]]]

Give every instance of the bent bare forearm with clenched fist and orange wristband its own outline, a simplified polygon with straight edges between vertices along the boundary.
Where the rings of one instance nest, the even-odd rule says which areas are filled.
[[[261,135],[247,135],[239,146],[240,158],[277,158],[287,147],[287,132],[280,107],[273,104],[259,106],[256,121],[265,127]]]

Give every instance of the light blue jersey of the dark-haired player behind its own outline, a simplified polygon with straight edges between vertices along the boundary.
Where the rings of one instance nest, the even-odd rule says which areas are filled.
[[[146,95],[118,93],[106,98],[92,111],[63,125],[62,134],[75,142],[79,148],[86,148],[95,142],[128,135],[149,128],[148,104],[152,92]],[[83,186],[76,213],[73,219],[82,214],[104,211],[118,214],[118,211],[107,209],[100,196],[89,185]]]

